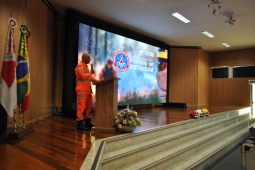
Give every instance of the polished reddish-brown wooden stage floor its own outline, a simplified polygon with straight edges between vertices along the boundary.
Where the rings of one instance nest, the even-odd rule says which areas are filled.
[[[143,126],[135,132],[188,120],[189,111],[206,108],[210,115],[244,107],[190,106],[187,108],[136,108]],[[93,121],[94,119],[92,119]],[[73,169],[81,167],[93,142],[121,133],[90,133],[76,130],[77,122],[65,117],[49,117],[32,124],[34,131],[20,140],[6,140],[0,135],[0,169]]]

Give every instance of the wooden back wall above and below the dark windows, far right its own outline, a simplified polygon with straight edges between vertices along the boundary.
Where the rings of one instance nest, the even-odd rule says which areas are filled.
[[[214,52],[212,67],[255,65],[255,48]],[[212,79],[210,104],[250,106],[248,80],[254,78]]]

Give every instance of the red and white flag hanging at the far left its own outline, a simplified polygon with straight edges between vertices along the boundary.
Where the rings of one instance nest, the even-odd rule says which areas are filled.
[[[16,27],[17,21],[10,18],[1,71],[0,102],[10,117],[13,116],[13,110],[17,107],[16,56],[13,37]]]

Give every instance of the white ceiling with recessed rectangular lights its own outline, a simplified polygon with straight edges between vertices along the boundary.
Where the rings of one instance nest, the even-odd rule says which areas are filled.
[[[66,9],[75,9],[172,46],[199,46],[210,52],[255,47],[254,0],[221,0],[218,17],[208,7],[211,0],[48,1],[60,15],[64,15]],[[171,15],[173,12],[179,12],[191,22],[181,22]],[[237,20],[233,26],[225,23],[229,14]],[[215,37],[209,38],[202,31]],[[222,42],[231,47],[226,48]]]

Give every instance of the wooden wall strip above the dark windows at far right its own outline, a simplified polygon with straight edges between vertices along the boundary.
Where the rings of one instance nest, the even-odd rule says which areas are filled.
[[[255,48],[212,53],[212,67],[255,65]]]

